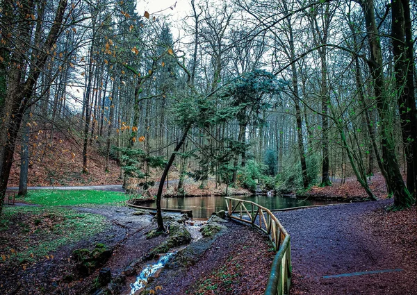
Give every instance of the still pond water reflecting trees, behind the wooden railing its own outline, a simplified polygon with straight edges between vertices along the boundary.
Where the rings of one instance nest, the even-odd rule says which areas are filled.
[[[252,201],[268,209],[284,209],[309,205],[324,205],[341,203],[337,201],[314,201],[295,199],[286,196],[233,196],[236,199]],[[175,197],[162,198],[162,208],[193,210],[193,217],[196,219],[206,219],[211,216],[212,212],[226,210],[224,196],[194,196],[194,197]],[[155,203],[149,204],[150,207],[156,207]]]

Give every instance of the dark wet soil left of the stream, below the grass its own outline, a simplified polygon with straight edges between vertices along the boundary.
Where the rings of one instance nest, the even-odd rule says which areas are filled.
[[[53,259],[40,260],[26,269],[0,269],[0,294],[89,294],[99,269],[86,278],[79,277],[71,257],[74,249],[94,248],[97,243],[114,248],[113,256],[106,263],[106,267],[110,267],[112,274],[117,275],[133,260],[140,258],[165,239],[161,236],[146,241],[145,233],[155,226],[152,216],[133,215],[135,210],[131,208],[97,206],[72,209],[104,215],[108,228],[103,233],[76,244],[61,247],[54,253]],[[68,275],[74,280],[65,281],[65,276]]]

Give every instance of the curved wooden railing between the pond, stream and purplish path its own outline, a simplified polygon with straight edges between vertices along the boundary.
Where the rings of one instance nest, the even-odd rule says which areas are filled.
[[[290,235],[268,208],[251,201],[234,198],[226,200],[229,218],[243,221],[266,233],[277,251],[272,262],[265,295],[289,294],[291,287]]]

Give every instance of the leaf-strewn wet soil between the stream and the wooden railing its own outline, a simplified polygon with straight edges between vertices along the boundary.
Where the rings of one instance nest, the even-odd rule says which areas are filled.
[[[198,253],[195,263],[167,265],[149,288],[162,286],[157,294],[166,295],[263,294],[275,256],[272,245],[250,226],[234,221],[223,225],[227,229],[220,235],[200,240],[202,245],[190,251]]]

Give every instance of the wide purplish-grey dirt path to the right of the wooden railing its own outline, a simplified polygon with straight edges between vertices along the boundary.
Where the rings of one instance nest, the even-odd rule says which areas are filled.
[[[415,265],[397,251],[400,246],[389,231],[368,221],[391,203],[277,212],[291,235],[292,294],[417,294]]]

